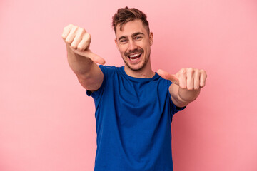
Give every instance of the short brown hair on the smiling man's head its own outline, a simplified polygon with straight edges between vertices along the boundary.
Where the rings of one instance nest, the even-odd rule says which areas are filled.
[[[116,27],[120,24],[120,30],[122,29],[122,26],[126,24],[129,21],[133,21],[136,19],[140,19],[143,23],[143,26],[146,27],[146,30],[148,33],[150,32],[149,29],[149,23],[146,19],[146,14],[144,14],[142,11],[138,9],[129,9],[128,6],[122,9],[118,9],[116,14],[112,17],[112,26],[114,28],[114,31],[116,33]]]

